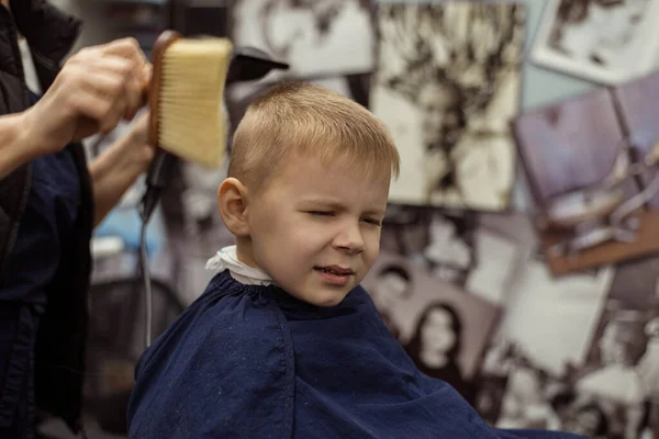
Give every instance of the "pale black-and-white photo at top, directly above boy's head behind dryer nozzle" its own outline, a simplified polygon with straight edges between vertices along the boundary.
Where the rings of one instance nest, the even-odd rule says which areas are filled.
[[[369,0],[236,0],[231,35],[290,65],[269,81],[366,74],[375,67],[373,8]]]

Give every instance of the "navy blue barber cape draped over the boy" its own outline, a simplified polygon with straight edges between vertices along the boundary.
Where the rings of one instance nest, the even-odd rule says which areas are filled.
[[[417,371],[361,288],[300,302],[227,271],[143,354],[130,438],[577,438],[488,426]]]

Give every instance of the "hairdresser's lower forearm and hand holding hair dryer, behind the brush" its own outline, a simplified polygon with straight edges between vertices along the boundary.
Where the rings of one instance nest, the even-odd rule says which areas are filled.
[[[96,203],[94,226],[119,203],[125,191],[150,164],[154,148],[147,143],[148,113],[89,167]]]

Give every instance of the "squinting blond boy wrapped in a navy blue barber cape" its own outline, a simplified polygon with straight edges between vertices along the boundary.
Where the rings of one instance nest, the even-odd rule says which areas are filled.
[[[304,83],[252,103],[217,194],[236,245],[144,353],[131,438],[530,438],[421,374],[359,282],[396,148],[357,103]]]

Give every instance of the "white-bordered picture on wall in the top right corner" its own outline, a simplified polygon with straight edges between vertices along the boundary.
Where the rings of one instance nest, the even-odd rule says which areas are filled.
[[[537,65],[601,85],[659,64],[657,0],[549,0],[533,42]]]

